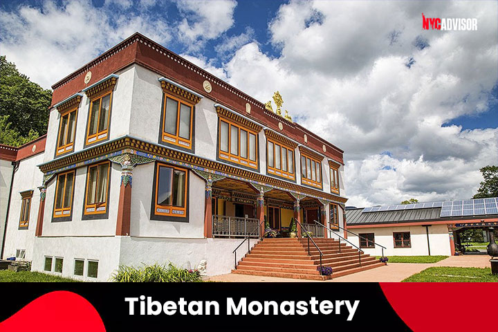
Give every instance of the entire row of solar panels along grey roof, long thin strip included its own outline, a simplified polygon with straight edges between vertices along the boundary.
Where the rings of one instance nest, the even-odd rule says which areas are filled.
[[[441,217],[498,214],[498,198],[465,199],[462,201],[374,206],[372,208],[363,209],[362,213],[428,208],[441,208]]]

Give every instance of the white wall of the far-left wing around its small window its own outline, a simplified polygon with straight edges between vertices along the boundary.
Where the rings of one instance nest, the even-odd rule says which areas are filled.
[[[10,201],[6,243],[2,258],[15,257],[17,249],[26,250],[27,260],[31,260],[33,257],[33,241],[35,240],[40,195],[38,187],[42,185],[43,181],[43,173],[39,171],[36,165],[42,163],[43,158],[43,154],[37,154],[21,160],[19,163],[19,168],[15,173],[14,182],[12,183],[12,199]],[[22,205],[22,197],[19,192],[26,190],[33,190],[29,224],[28,229],[19,230]]]

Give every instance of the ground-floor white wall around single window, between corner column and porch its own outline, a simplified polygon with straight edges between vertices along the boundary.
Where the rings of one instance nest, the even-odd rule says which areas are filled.
[[[189,222],[150,220],[154,163],[133,170],[131,236],[204,238],[205,181],[194,172],[188,177]]]

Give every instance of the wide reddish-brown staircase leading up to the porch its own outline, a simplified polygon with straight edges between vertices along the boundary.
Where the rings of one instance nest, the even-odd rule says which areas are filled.
[[[361,266],[358,250],[340,243],[335,239],[315,239],[322,250],[322,266],[330,266],[332,275],[320,275],[320,253],[310,241],[308,256],[307,239],[264,239],[259,241],[241,261],[232,273],[240,275],[261,275],[266,277],[282,277],[294,279],[326,280],[371,268],[385,266],[375,257],[361,255]]]

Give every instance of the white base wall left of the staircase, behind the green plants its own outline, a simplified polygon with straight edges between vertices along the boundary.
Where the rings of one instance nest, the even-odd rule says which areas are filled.
[[[242,239],[155,239],[123,237],[120,265],[140,266],[145,264],[168,264],[172,262],[183,268],[197,268],[203,259],[208,261],[208,275],[230,273],[234,268],[232,251]],[[251,240],[254,246],[257,240]],[[248,244],[237,250],[237,261],[248,251]]]

